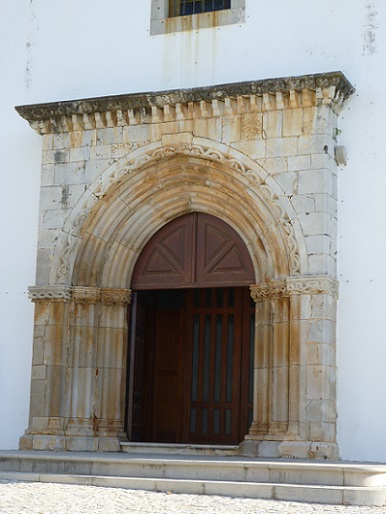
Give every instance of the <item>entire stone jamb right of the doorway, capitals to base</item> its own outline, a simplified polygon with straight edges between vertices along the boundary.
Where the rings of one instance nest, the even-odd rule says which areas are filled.
[[[331,406],[336,405],[335,390],[327,388],[326,393],[323,384],[320,386],[319,382],[313,380],[315,374],[322,373],[324,384],[335,383],[335,366],[324,362],[322,355],[318,364],[309,362],[306,351],[312,337],[312,327],[318,324],[323,342],[326,342],[326,337],[329,338],[327,343],[333,346],[335,352],[335,334],[323,335],[323,323],[335,322],[335,319],[326,318],[336,312],[338,283],[327,276],[288,277],[282,281],[255,284],[250,289],[256,303],[255,398],[259,398],[261,391],[264,391],[266,398],[262,404],[257,400],[254,405],[253,423],[241,445],[241,452],[259,457],[338,458],[336,410],[331,411]],[[323,308],[315,308],[316,299],[320,296],[330,298],[334,304],[328,313]],[[289,302],[287,310],[282,309],[283,304],[279,307],[278,302]],[[277,321],[288,326],[285,332],[278,335],[274,330],[264,331],[266,326],[271,328],[275,316]],[[283,334],[286,335],[283,337]],[[261,344],[265,346],[263,351],[259,350]],[[288,391],[277,393],[288,402],[288,417],[286,422],[275,423],[272,419],[272,402],[276,402],[276,405],[280,403],[280,396],[275,398],[277,384],[264,380],[264,376],[259,378],[259,373],[263,373],[264,368],[269,373],[273,372],[273,355],[277,353],[278,345],[286,344]],[[319,392],[320,398],[317,396]],[[320,414],[307,407],[315,401],[320,411],[327,412],[325,417],[321,415],[323,419],[319,419]]]

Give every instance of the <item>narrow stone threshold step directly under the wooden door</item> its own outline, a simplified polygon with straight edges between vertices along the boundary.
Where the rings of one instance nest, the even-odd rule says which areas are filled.
[[[123,453],[148,455],[237,456],[238,446],[169,443],[121,443]]]

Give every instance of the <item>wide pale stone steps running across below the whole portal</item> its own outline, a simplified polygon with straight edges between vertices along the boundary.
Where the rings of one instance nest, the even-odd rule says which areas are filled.
[[[239,457],[0,452],[0,480],[386,505],[386,466]]]

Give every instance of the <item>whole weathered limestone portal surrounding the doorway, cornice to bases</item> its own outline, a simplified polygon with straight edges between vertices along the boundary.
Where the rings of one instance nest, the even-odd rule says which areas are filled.
[[[189,212],[255,270],[254,419],[242,451],[337,456],[334,147],[341,73],[24,106],[43,136],[30,424],[23,447],[115,450],[131,275]]]

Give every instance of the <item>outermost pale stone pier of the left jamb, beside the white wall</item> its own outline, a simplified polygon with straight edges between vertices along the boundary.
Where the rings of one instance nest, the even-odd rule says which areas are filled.
[[[33,286],[35,303],[29,426],[20,449],[64,450],[71,288]]]

